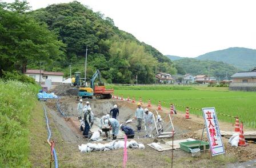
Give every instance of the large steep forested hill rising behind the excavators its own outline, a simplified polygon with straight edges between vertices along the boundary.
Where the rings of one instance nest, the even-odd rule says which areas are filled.
[[[74,1],[50,5],[45,9],[31,11],[29,15],[58,35],[66,45],[61,61],[44,65],[46,70],[84,74],[86,46],[88,46],[87,73],[90,77],[96,69],[111,83],[154,82],[155,67],[158,71],[173,73],[170,59],[158,50],[139,42],[133,35],[119,30],[113,19],[94,13],[89,7]],[[37,68],[38,63],[29,63],[29,68]]]

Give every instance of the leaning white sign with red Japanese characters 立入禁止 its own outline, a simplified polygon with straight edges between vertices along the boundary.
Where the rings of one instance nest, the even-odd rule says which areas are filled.
[[[225,153],[221,139],[221,131],[219,131],[219,123],[214,107],[202,108],[203,118],[205,118],[205,126],[208,139],[210,141],[211,155],[219,155]]]

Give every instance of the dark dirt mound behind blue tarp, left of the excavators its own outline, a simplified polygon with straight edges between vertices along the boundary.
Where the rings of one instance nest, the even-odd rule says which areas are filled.
[[[50,90],[56,95],[66,96],[66,95],[78,95],[78,89],[75,87],[71,87],[69,84],[59,85],[54,89]]]

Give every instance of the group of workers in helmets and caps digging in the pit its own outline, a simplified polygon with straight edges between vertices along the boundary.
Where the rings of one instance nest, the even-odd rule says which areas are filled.
[[[86,105],[83,106],[82,104],[82,99],[80,99],[77,110],[78,110],[78,119],[82,121],[82,114],[83,114],[83,121],[85,122],[85,129],[83,129],[83,135],[85,137],[89,137],[89,130],[93,126],[93,119],[94,119],[94,114],[93,111],[91,110],[90,103],[87,101]],[[154,123],[154,117],[153,113],[149,111],[149,109],[145,108],[142,109],[141,103],[137,104],[138,108],[135,111],[135,119],[137,120],[137,131],[141,131],[142,127],[142,122],[145,125],[145,131],[146,131],[146,137],[151,137],[151,132],[152,132],[152,125]],[[119,129],[121,129],[126,135],[127,138],[134,138],[134,130],[127,125],[119,125],[118,122],[118,115],[119,115],[119,110],[117,108],[117,105],[114,105],[114,108],[110,110],[110,115],[106,114],[103,115],[100,119],[100,125],[99,127],[101,128],[95,134],[97,134],[96,137],[99,137],[99,135],[102,134],[102,131],[105,132],[106,137],[108,137],[108,132],[112,130],[112,137],[113,140],[117,138],[117,135],[119,133]],[[111,117],[111,118],[110,118]],[[160,115],[157,115],[157,124],[158,124],[158,131],[163,131],[163,123],[162,123],[162,118]],[[95,137],[94,135],[92,137]],[[94,138],[95,139],[95,138]]]

